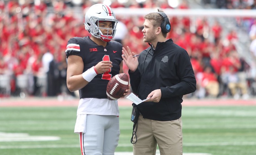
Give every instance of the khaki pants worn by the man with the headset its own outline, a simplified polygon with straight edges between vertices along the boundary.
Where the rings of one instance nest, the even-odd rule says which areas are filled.
[[[143,116],[139,115],[137,127],[137,142],[133,145],[134,155],[155,155],[157,144],[161,155],[182,155],[181,118],[157,121],[143,119]]]

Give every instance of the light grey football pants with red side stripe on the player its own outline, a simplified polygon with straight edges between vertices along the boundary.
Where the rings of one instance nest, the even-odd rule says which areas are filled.
[[[86,132],[79,134],[82,155],[114,155],[119,135],[119,117],[87,115]]]

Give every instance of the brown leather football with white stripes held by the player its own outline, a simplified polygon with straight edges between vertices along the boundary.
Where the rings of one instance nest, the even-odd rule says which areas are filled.
[[[129,88],[129,78],[125,73],[113,76],[107,84],[107,98],[117,100],[124,96],[125,90]]]

